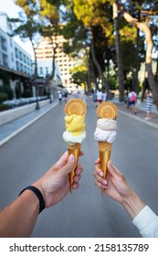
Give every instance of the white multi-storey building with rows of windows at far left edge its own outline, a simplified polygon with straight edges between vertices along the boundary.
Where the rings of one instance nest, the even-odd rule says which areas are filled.
[[[3,70],[6,76],[10,78],[10,87],[16,98],[16,86],[20,87],[21,91],[24,90],[21,80],[24,78],[30,80],[34,67],[31,55],[16,43],[12,34],[8,16],[4,12],[0,12],[0,70]],[[1,77],[0,85],[3,85]]]

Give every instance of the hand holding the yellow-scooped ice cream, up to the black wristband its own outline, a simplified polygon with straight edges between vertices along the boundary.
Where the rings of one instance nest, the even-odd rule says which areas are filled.
[[[80,155],[83,155],[80,152]],[[49,208],[56,205],[63,197],[69,192],[69,179],[68,174],[73,170],[75,166],[74,155],[69,155],[66,152],[62,155],[58,162],[50,167],[47,173],[42,176],[33,185],[37,187],[45,200],[45,207]],[[73,189],[79,187],[79,178],[82,172],[82,166],[78,165],[75,170]]]

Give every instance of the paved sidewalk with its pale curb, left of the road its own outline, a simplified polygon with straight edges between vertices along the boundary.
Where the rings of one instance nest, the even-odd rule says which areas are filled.
[[[25,114],[24,116],[15,119],[12,122],[5,123],[0,126],[0,146],[5,144],[8,140],[16,136],[17,133],[20,133],[31,123],[34,123],[42,117],[44,114],[49,112],[51,109],[58,105],[58,101],[49,103],[44,107],[41,107],[39,110]]]

